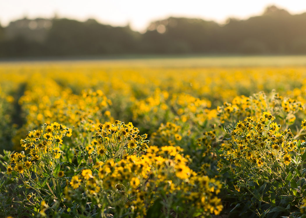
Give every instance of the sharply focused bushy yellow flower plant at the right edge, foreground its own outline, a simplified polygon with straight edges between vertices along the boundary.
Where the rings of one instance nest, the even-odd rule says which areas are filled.
[[[230,138],[222,148],[219,166],[223,172],[231,170],[237,179],[231,191],[244,190],[244,196],[252,195],[256,201],[271,205],[269,210],[286,213],[302,204],[306,146],[297,141],[299,134],[274,120],[271,113],[263,112],[257,119],[247,117],[234,127],[225,127]]]

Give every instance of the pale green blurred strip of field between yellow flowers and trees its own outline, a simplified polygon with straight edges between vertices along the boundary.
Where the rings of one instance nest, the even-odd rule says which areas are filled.
[[[52,59],[52,60],[10,60],[0,65],[47,63],[47,64],[97,64],[111,67],[254,67],[254,66],[306,66],[306,55],[286,56],[177,56],[177,57],[120,57],[104,59]]]

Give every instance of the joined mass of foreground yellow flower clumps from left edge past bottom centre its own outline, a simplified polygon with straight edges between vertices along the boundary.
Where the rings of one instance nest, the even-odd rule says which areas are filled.
[[[32,216],[55,216],[56,210],[58,216],[143,217],[155,204],[166,216],[221,212],[219,181],[191,170],[180,147],[148,147],[147,135],[138,132],[118,120],[99,124],[69,162],[71,149],[63,137],[72,130],[45,124],[21,140],[25,151],[9,156],[7,174],[21,180],[25,189],[19,187],[24,194],[18,198]]]

